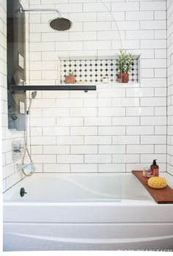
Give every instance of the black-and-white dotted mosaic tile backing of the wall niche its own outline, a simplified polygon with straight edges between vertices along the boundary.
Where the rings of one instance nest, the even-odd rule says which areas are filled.
[[[117,59],[111,56],[99,58],[93,57],[70,57],[59,58],[60,83],[65,84],[65,76],[74,72],[77,83],[100,83],[107,76],[108,81],[117,83],[118,69]],[[133,59],[133,67],[129,73],[129,82],[139,82],[139,56]]]

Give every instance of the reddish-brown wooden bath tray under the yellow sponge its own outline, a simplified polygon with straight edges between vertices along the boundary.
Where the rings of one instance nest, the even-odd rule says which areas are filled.
[[[132,173],[139,179],[145,189],[147,189],[155,202],[158,204],[173,203],[173,189],[168,185],[163,189],[152,189],[147,185],[148,179],[142,176],[142,171],[132,171]]]

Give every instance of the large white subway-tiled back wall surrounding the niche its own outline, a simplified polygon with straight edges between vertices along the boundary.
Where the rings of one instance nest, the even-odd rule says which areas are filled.
[[[97,84],[96,92],[40,93],[31,111],[38,171],[130,172],[149,166],[153,158],[166,171],[166,1],[29,3],[31,8],[59,7],[73,22],[69,32],[53,32],[48,20],[54,13],[29,15],[32,84],[58,84],[59,56],[95,59],[114,56],[121,47],[140,55],[141,84],[110,82]]]

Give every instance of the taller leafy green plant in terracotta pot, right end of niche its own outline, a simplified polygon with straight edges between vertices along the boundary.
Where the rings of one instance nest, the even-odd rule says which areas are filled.
[[[128,83],[129,72],[133,66],[133,54],[125,54],[124,49],[120,49],[118,54],[117,68],[119,70],[118,81],[119,83]]]

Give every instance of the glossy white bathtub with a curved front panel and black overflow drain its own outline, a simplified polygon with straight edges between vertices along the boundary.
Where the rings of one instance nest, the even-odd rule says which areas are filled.
[[[117,249],[173,249],[173,205],[130,173],[35,173],[4,193],[4,251]]]

